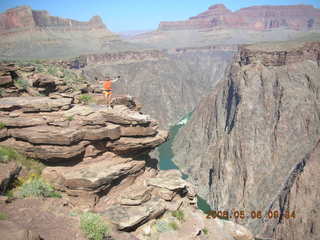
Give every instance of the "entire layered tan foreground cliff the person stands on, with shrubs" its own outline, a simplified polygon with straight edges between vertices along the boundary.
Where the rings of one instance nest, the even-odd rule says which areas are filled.
[[[36,93],[51,86],[40,96],[22,89],[0,98],[3,238],[253,240],[246,228],[199,211],[178,170],[158,170],[148,152],[168,134],[132,97],[116,97],[113,108],[79,103],[81,92],[60,88],[64,76],[53,86],[56,76],[34,70],[1,66],[1,75],[25,74]],[[12,81],[2,81],[2,92],[12,94]]]

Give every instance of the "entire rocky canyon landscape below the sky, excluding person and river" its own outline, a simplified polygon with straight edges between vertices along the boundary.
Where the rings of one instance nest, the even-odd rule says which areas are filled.
[[[319,39],[303,4],[217,4],[125,39],[99,16],[0,14],[2,236],[87,239],[89,211],[106,239],[319,239]],[[119,75],[107,108],[98,81]],[[17,195],[35,179],[60,197]]]

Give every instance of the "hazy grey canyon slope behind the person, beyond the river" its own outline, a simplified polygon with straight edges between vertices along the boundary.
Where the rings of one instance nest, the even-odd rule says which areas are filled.
[[[168,127],[209,93],[232,54],[231,47],[207,47],[91,55],[84,72],[92,81],[94,76],[120,75],[114,92],[137,97],[160,126]]]

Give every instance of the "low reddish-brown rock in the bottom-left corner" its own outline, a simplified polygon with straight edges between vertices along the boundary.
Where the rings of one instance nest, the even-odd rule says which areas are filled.
[[[1,238],[6,240],[40,240],[39,234],[10,221],[0,221]]]

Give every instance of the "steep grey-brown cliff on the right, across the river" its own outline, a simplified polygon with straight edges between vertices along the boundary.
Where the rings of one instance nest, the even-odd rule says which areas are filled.
[[[260,238],[319,238],[319,46],[241,46],[174,143],[200,195],[243,210],[238,221]]]

